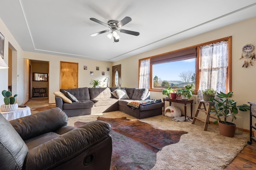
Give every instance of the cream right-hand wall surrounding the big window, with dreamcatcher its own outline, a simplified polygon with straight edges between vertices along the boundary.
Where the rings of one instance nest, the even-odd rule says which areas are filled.
[[[242,53],[242,47],[244,45],[253,44],[256,46],[255,28],[256,18],[251,18],[249,20],[216,29],[214,31],[185,39],[165,47],[147,51],[146,53],[141,53],[139,55],[129,57],[128,59],[114,62],[113,65],[122,65],[122,80],[124,80],[122,83],[123,87],[138,87],[139,59],[232,36],[232,91],[234,92],[232,98],[237,101],[238,105],[247,104],[247,102],[256,102],[256,90],[254,90],[254,86],[256,85],[256,78],[254,75],[254,73],[256,73],[256,61],[253,61],[253,66],[242,68],[244,61],[239,60]],[[150,94],[150,97],[154,99],[166,97],[162,95],[161,92],[150,92]],[[195,114],[196,108],[198,107],[198,102],[196,96],[193,96],[192,99],[196,101],[193,106],[193,114]],[[166,103],[165,106],[168,106],[168,103]],[[182,104],[176,104],[176,106],[179,107],[182,111],[184,110],[184,106]],[[189,109],[190,107],[187,107],[187,113],[190,113]],[[249,129],[249,111],[240,111],[239,114],[241,114],[244,119],[244,128]],[[255,120],[254,123],[256,123]]]

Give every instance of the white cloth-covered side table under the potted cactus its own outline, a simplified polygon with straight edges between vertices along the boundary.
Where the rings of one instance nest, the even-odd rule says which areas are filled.
[[[30,107],[18,107],[14,111],[1,111],[0,113],[8,120],[18,119],[20,117],[31,115]]]

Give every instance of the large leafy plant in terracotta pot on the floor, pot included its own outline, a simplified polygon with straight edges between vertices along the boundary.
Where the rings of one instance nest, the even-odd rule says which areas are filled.
[[[240,111],[247,111],[250,107],[246,104],[236,106],[236,101],[230,99],[233,92],[228,92],[227,94],[217,92],[217,97],[219,99],[212,98],[211,102],[215,102],[215,108],[213,112],[218,117],[218,120],[214,123],[219,124],[220,134],[226,137],[234,137],[236,131],[236,124],[232,123],[236,119],[236,114],[238,114],[238,108]],[[227,117],[232,118],[231,122],[227,121]]]

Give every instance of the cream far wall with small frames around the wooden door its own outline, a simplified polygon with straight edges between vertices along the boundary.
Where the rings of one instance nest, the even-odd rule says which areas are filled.
[[[24,58],[30,60],[49,61],[49,103],[55,103],[55,97],[53,92],[60,90],[60,61],[78,63],[78,87],[92,87],[90,86],[90,80],[98,79],[102,81],[101,86],[106,87],[107,84],[103,80],[108,77],[111,84],[112,78],[112,63],[105,61],[96,61],[88,59],[78,59],[72,57],[63,57],[57,55],[46,55],[41,53],[24,52]],[[84,66],[87,66],[87,70],[84,70]],[[100,67],[100,70],[96,70],[96,66]],[[107,71],[107,67],[110,71]],[[94,75],[90,75],[90,71],[94,72]],[[102,71],[105,75],[102,76]]]

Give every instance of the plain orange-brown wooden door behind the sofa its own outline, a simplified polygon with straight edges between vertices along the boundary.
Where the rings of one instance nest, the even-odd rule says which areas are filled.
[[[78,88],[78,63],[60,62],[60,88]]]

